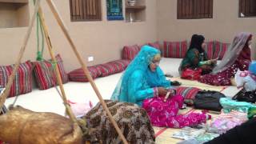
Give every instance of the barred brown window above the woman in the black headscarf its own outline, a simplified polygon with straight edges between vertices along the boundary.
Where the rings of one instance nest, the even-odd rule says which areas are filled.
[[[177,0],[178,19],[213,18],[213,0]]]

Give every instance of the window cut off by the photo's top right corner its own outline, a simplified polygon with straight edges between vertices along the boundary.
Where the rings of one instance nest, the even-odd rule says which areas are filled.
[[[239,17],[256,17],[256,0],[239,0]]]

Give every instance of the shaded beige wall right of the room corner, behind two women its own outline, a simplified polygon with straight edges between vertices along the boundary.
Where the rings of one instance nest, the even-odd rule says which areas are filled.
[[[238,18],[238,0],[214,0],[214,18],[177,19],[177,0],[157,1],[158,40],[190,40],[192,34],[203,34],[208,40],[232,42],[241,31],[254,34],[255,58],[256,18]]]

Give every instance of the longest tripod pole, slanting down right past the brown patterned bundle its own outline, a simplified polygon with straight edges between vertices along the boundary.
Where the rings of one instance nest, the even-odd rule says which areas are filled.
[[[74,46],[74,42],[72,41],[70,34],[68,33],[66,26],[64,25],[64,22],[62,21],[62,18],[60,18],[57,8],[54,5],[54,2],[52,0],[46,0],[46,2],[48,3],[48,5],[50,6],[50,10],[52,11],[52,13],[54,14],[55,19],[58,22],[58,25],[61,27],[63,33],[65,34],[68,42],[70,43],[70,46],[72,48],[72,50],[74,51],[74,54],[76,55],[76,57],[78,58],[79,63],[82,66],[82,70],[84,71],[84,73],[86,74],[86,77],[88,78],[90,85],[93,87],[96,95],[98,96],[99,102],[101,102],[104,110],[106,110],[106,114],[109,116],[110,118],[110,122],[112,122],[112,124],[114,125],[114,128],[117,130],[119,137],[122,139],[122,142],[124,142],[125,144],[128,144],[128,142],[126,141],[126,138],[123,136],[122,131],[119,129],[118,124],[114,121],[114,118],[112,117],[110,110],[107,108],[106,103],[104,102],[102,95],[99,93],[97,86],[94,83],[93,78],[90,76],[90,72],[87,69],[87,66],[85,64],[85,62],[83,62],[80,54],[78,53],[78,50],[76,49],[76,47]]]

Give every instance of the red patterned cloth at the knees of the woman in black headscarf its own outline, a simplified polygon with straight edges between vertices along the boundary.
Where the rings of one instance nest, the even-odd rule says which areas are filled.
[[[186,68],[185,70],[182,71],[181,78],[183,79],[190,79],[190,80],[198,80],[201,77],[202,74],[202,69],[197,68],[197,69],[190,69]]]

